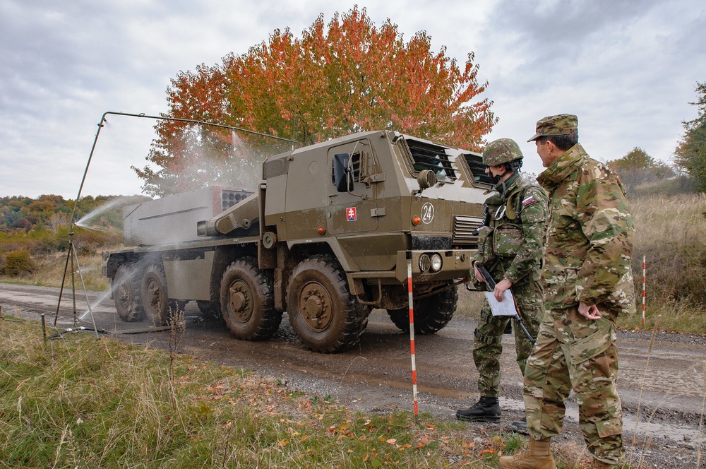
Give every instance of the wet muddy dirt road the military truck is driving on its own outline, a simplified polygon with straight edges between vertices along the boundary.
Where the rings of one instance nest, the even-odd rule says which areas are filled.
[[[64,291],[57,326],[74,326],[73,297]],[[119,333],[123,340],[163,346],[169,332],[150,331],[150,324],[124,323],[116,317],[107,295],[89,292],[88,311],[83,290],[76,291],[78,326],[95,326],[109,333]],[[54,323],[59,289],[0,284],[3,315],[38,320],[45,314],[48,325]],[[145,333],[120,334],[143,329]],[[417,376],[419,409],[442,419],[453,419],[457,408],[467,407],[477,399],[477,372],[472,363],[472,333],[475,321],[454,319],[433,336],[417,336]],[[700,449],[706,448],[700,436],[700,422],[706,381],[706,338],[703,336],[658,333],[650,351],[648,332],[621,331],[618,338],[620,379],[618,391],[624,410],[624,439],[633,461],[642,467],[696,467]],[[522,379],[515,364],[513,338],[503,340],[503,381],[501,425],[488,425],[489,431],[509,431],[510,422],[522,416]],[[411,360],[409,336],[400,332],[385,311],[370,316],[361,343],[354,349],[335,355],[306,350],[289,327],[285,314],[277,334],[266,342],[235,340],[225,324],[204,320],[192,303],[186,307],[186,333],[183,352],[204,360],[215,360],[234,367],[245,367],[264,375],[286,380],[290,387],[330,395],[351,408],[372,412],[412,410]],[[639,408],[639,424],[635,415]],[[565,431],[561,441],[580,444],[576,423],[578,411],[568,404]],[[477,429],[469,425],[469,432]],[[700,448],[701,446],[701,448]],[[700,458],[705,459],[705,458]],[[633,465],[638,467],[638,465]],[[700,467],[706,467],[702,461]]]

